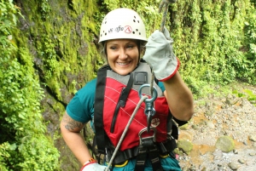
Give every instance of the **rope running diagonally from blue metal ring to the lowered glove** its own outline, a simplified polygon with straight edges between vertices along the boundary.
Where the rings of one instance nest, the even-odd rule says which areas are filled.
[[[123,140],[124,140],[124,138],[125,138],[125,134],[126,134],[126,132],[128,131],[128,128],[129,128],[130,125],[131,125],[131,122],[132,122],[132,120],[133,120],[133,117],[135,117],[135,115],[136,115],[136,113],[137,113],[139,107],[142,105],[143,101],[146,100],[146,99],[148,99],[148,96],[143,95],[143,97],[141,98],[141,100],[139,100],[139,102],[138,102],[138,104],[137,104],[135,110],[134,110],[133,113],[131,114],[131,117],[130,117],[128,123],[126,124],[125,130],[124,130],[123,134],[121,135],[121,138],[120,138],[120,140],[119,140],[118,145],[116,145],[116,147],[115,147],[115,149],[114,149],[114,151],[113,151],[113,155],[112,155],[112,157],[111,157],[111,159],[110,159],[110,161],[109,161],[109,163],[108,163],[108,167],[107,167],[105,170],[108,170],[109,167],[112,165],[113,158],[115,157],[116,153],[119,151],[119,146],[121,145],[121,143],[123,142]]]

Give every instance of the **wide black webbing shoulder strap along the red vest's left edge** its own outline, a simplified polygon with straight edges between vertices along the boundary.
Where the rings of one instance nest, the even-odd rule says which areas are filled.
[[[96,83],[96,96],[94,104],[94,125],[96,131],[96,145],[100,154],[105,153],[105,131],[103,128],[103,109],[104,109],[104,94],[106,86],[108,66],[102,66],[97,72],[97,83]]]

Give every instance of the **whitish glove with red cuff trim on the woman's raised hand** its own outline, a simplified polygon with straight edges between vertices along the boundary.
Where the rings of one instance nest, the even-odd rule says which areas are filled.
[[[166,28],[164,33],[157,30],[148,37],[143,60],[146,60],[148,65],[152,67],[154,76],[159,81],[170,79],[179,67],[179,60],[173,53],[172,43],[173,40]]]

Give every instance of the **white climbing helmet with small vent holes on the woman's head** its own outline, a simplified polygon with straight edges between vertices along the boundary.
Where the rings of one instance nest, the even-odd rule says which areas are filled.
[[[132,9],[114,9],[102,20],[99,43],[118,38],[147,41],[141,17]]]

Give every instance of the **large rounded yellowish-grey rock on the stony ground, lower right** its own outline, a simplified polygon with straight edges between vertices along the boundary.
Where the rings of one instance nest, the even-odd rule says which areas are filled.
[[[234,140],[230,138],[230,136],[222,136],[218,138],[215,147],[220,151],[230,152],[234,150],[235,143]]]

